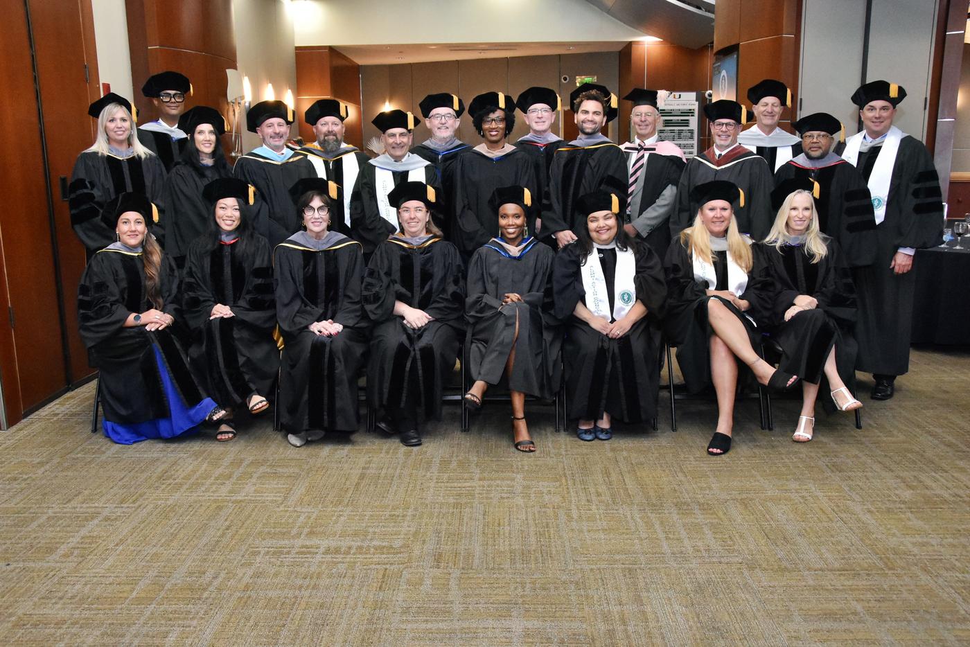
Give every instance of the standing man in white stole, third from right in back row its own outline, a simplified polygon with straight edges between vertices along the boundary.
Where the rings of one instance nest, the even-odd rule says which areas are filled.
[[[778,127],[782,111],[792,109],[792,90],[782,81],[765,79],[748,90],[755,125],[737,137],[737,143],[758,153],[774,173],[801,153],[801,140]]]

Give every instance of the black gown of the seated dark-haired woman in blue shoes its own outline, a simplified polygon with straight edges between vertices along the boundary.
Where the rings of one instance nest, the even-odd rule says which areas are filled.
[[[610,311],[614,307],[616,250],[601,249]],[[563,360],[566,369],[567,415],[580,420],[598,420],[603,413],[624,422],[644,422],[657,415],[659,392],[660,331],[666,288],[660,257],[648,245],[634,248],[633,279],[636,295],[647,315],[633,324],[630,332],[611,340],[572,314],[586,298],[581,274],[579,244],[563,247],[553,266],[556,316],[565,321]]]

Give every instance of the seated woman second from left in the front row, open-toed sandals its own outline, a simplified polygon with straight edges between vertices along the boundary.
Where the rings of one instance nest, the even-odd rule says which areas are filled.
[[[215,179],[200,198],[210,206],[209,231],[189,246],[182,282],[189,357],[228,411],[215,439],[232,440],[233,410],[244,402],[250,413],[265,411],[279,369],[273,258],[270,243],[252,231],[249,184]]]

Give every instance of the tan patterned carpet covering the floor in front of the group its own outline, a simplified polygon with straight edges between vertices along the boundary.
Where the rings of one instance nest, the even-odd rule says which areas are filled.
[[[889,403],[791,440],[738,404],[678,432],[511,447],[505,404],[407,449],[290,447],[270,421],[112,444],[93,385],[0,434],[4,644],[970,642],[970,354],[917,350]],[[863,382],[867,392],[868,383]],[[661,406],[666,403],[662,394]]]

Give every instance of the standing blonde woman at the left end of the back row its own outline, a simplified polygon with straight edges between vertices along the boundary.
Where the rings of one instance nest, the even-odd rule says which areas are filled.
[[[140,193],[161,208],[165,166],[138,141],[131,103],[109,92],[92,103],[87,113],[98,120],[94,144],[82,151],[68,186],[71,225],[88,257],[114,243],[113,227],[101,210],[120,193]],[[157,228],[156,228],[157,229]],[[156,231],[153,236],[161,237]]]

